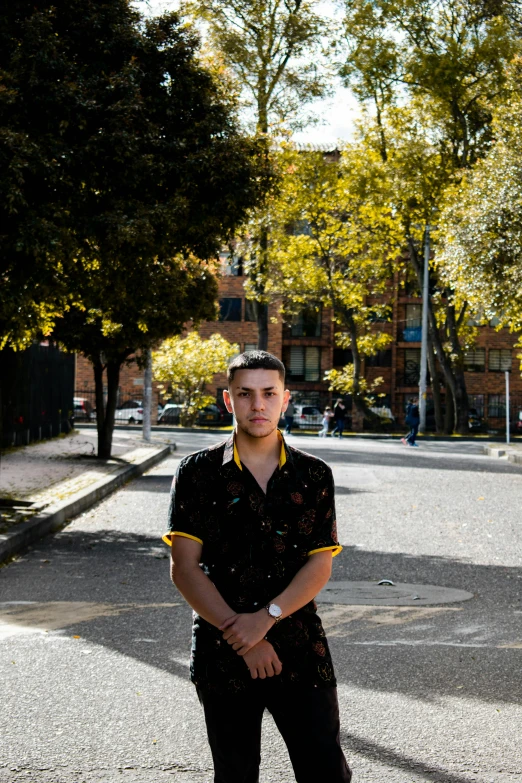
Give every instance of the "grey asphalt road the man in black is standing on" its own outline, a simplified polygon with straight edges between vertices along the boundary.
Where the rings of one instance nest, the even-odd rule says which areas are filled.
[[[0,569],[1,783],[212,780],[160,534],[177,461],[219,439],[180,434],[171,459]],[[473,444],[292,442],[335,472],[334,580],[474,595],[323,605],[354,782],[522,781],[522,468]],[[267,716],[261,783],[293,779]]]

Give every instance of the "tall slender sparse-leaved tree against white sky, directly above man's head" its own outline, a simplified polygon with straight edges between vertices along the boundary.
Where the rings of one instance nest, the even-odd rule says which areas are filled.
[[[327,22],[308,0],[193,0],[205,22],[212,50],[229,70],[245,115],[258,133],[301,127],[307,103],[325,94],[318,67]],[[258,347],[268,344],[267,280],[270,222],[264,210],[248,231],[246,273],[258,325]]]

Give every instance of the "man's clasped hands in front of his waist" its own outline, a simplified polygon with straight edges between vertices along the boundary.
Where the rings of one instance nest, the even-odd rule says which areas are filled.
[[[281,661],[265,639],[273,624],[268,612],[260,609],[251,614],[235,614],[219,626],[223,639],[244,658],[254,680],[281,674]]]

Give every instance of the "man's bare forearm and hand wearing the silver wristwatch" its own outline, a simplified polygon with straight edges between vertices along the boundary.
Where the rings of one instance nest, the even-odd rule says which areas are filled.
[[[316,552],[310,555],[308,562],[297,572],[288,587],[272,599],[282,609],[282,617],[288,617],[312,601],[330,579],[332,573],[331,551]],[[220,626],[223,638],[232,645],[239,655],[245,655],[274,625],[273,620],[263,607],[251,614],[238,614],[229,617]]]

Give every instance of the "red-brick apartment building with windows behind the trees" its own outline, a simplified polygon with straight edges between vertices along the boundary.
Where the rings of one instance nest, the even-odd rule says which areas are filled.
[[[241,351],[257,346],[257,324],[251,303],[245,297],[241,265],[223,254],[223,276],[220,281],[220,320],[202,324],[202,337],[219,332],[227,340],[237,343]],[[372,380],[382,377],[379,392],[385,396],[379,404],[391,408],[402,424],[406,400],[418,393],[421,351],[422,304],[414,289],[400,284],[399,275],[390,280],[385,300],[391,307],[391,320],[376,324],[388,332],[392,341],[387,350],[363,361],[363,373]],[[470,407],[487,420],[490,429],[501,429],[505,417],[505,370],[511,370],[512,419],[522,410],[522,376],[515,343],[517,335],[509,330],[497,331],[495,324],[478,329],[476,347],[466,354],[466,383]],[[287,385],[297,403],[324,407],[337,397],[328,391],[322,380],[332,367],[349,363],[350,351],[335,347],[334,324],[331,311],[323,308],[305,310],[299,317],[285,323],[277,303],[269,306],[268,350],[280,357],[287,368]],[[222,402],[226,376],[216,375],[209,392]],[[143,373],[135,363],[122,368],[120,402],[141,399]],[[94,380],[90,364],[77,358],[76,395],[93,394]],[[444,401],[444,388],[441,388]],[[162,401],[160,390],[154,385],[154,402]],[[347,400],[350,408],[350,400]]]

